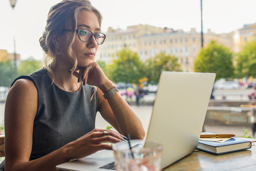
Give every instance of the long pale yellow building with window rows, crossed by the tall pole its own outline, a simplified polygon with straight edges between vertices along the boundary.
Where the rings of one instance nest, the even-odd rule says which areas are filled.
[[[216,35],[214,32],[211,32],[211,30],[208,30],[208,32],[203,35],[203,39],[204,47],[207,46],[211,40],[215,40],[218,44],[226,46],[231,50],[233,48],[231,34]],[[138,55],[142,61],[146,61],[160,52],[174,55],[178,58],[182,71],[193,72],[194,60],[200,49],[201,34],[197,33],[195,28],[191,28],[190,32],[177,30],[140,36]]]

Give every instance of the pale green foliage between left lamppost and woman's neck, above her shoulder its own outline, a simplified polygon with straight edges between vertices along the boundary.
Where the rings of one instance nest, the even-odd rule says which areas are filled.
[[[40,61],[36,61],[33,58],[21,61],[18,67],[18,76],[29,75],[32,72],[40,69]]]

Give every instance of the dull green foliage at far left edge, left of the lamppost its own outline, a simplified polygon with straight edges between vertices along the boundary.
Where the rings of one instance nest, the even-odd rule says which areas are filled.
[[[11,60],[0,62],[0,86],[10,87],[14,80],[14,65]]]

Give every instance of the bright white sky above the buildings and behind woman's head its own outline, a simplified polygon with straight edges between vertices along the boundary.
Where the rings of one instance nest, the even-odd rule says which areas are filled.
[[[43,59],[39,38],[49,9],[60,0],[17,0],[14,10],[9,0],[0,0],[0,49],[16,52],[21,60]],[[201,32],[200,0],[91,0],[103,15],[102,32],[109,26],[148,24],[188,32]],[[256,0],[202,0],[203,32],[230,33],[244,24],[256,23]]]

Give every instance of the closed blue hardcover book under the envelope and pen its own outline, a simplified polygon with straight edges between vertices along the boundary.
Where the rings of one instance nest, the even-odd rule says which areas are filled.
[[[202,132],[201,134],[213,134],[213,133]],[[251,147],[252,147],[251,141],[247,141],[239,138],[231,138],[225,142],[199,140],[197,149],[202,150],[204,152],[219,155],[224,153],[250,149]]]

